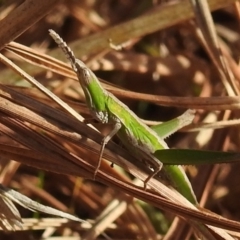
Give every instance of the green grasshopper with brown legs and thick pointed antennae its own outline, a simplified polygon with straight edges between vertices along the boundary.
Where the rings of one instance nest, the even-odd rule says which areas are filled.
[[[106,144],[114,135],[117,135],[127,148],[134,150],[134,155],[138,154],[143,157],[154,169],[152,174],[144,181],[146,188],[147,182],[156,176],[163,167],[162,162],[154,156],[154,153],[157,150],[168,149],[167,144],[153,129],[145,125],[125,104],[101,86],[95,74],[82,61],[75,58],[72,50],[57,33],[53,30],[49,30],[49,33],[65,53],[73,70],[76,72],[92,116],[103,124],[112,123],[114,125],[112,131],[102,140],[94,178],[100,167]],[[187,119],[188,117],[189,119]],[[175,126],[171,127],[173,125],[170,125],[165,137],[189,124],[193,117],[193,110],[188,110],[183,116],[176,118],[175,121],[172,120]],[[196,204],[195,195],[184,170],[180,166],[164,166],[164,169],[178,191],[189,201]]]

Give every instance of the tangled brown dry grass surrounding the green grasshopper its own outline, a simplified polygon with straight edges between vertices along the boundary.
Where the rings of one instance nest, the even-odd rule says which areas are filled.
[[[21,209],[24,231],[0,237],[240,238],[239,164],[186,168],[201,207],[218,215],[159,179],[144,191],[140,180],[150,170],[117,139],[92,180],[111,126],[94,124],[100,134],[82,122],[90,115],[81,87],[48,35],[48,29],[59,33],[148,124],[197,109],[194,124],[167,139],[170,147],[240,152],[239,5],[208,2],[209,8],[191,1],[0,1],[1,183],[91,224]]]

